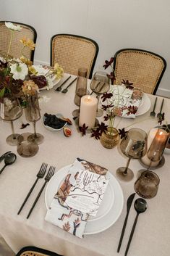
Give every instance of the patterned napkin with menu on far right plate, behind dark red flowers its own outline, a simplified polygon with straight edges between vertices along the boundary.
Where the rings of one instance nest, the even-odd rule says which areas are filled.
[[[124,84],[111,86],[109,92],[113,94],[109,102],[121,109],[120,116],[135,118],[143,99],[143,92],[138,88],[127,88]]]

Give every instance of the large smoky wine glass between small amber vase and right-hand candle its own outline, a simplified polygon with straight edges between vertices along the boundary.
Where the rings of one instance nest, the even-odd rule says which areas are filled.
[[[146,153],[147,134],[140,128],[132,128],[128,131],[127,136],[122,139],[120,149],[128,157],[127,166],[120,167],[116,170],[116,176],[122,181],[131,181],[134,173],[129,169],[131,159],[139,159]]]

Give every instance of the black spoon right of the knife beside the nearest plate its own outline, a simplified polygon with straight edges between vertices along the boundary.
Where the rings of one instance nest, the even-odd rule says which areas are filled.
[[[127,249],[125,251],[124,256],[127,256],[127,252],[129,250],[129,245],[130,245],[130,242],[132,241],[132,237],[133,237],[133,234],[134,234],[134,231],[135,231],[137,218],[138,218],[140,213],[145,212],[145,210],[147,209],[147,202],[143,198],[137,198],[135,200],[134,207],[135,207],[135,210],[137,212],[137,215],[136,215],[135,221],[134,221],[133,226],[132,226],[132,231],[131,231],[130,236],[129,236],[129,241],[128,241]]]

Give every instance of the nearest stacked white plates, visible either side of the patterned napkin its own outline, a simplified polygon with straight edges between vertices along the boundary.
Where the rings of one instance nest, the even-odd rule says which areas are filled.
[[[50,207],[54,194],[59,189],[62,181],[69,171],[71,165],[61,168],[48,182],[45,193],[46,207]],[[106,176],[110,178],[109,185],[95,217],[90,216],[85,227],[85,235],[97,234],[109,228],[119,218],[123,208],[123,193],[121,186],[111,173]]]

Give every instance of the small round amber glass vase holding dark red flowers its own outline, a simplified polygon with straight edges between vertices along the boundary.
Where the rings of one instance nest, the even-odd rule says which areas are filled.
[[[106,149],[113,149],[119,142],[119,133],[116,128],[107,128],[106,133],[101,135],[101,144],[106,147]]]

